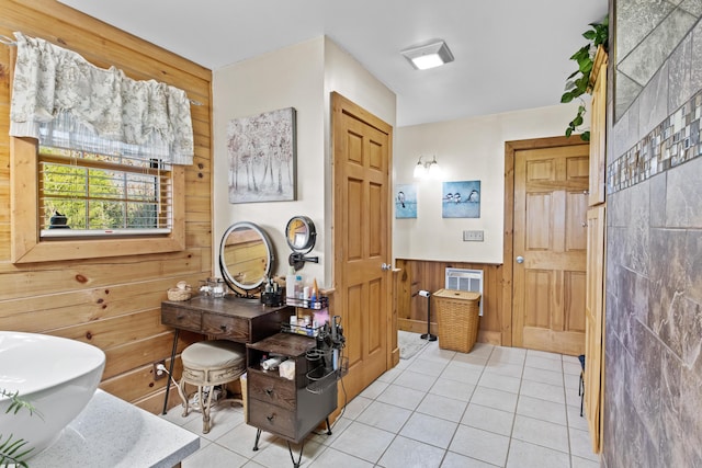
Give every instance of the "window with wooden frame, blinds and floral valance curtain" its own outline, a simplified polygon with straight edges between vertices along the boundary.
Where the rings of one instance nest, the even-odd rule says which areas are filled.
[[[183,250],[194,153],[185,92],[14,35],[12,262]]]

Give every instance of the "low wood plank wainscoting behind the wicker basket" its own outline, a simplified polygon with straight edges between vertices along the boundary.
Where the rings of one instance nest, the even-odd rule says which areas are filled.
[[[502,304],[502,290],[509,287],[509,282],[502,279],[502,265],[396,259],[395,266],[401,269],[396,299],[399,330],[427,333],[427,298],[419,296],[419,292],[434,293],[443,288],[445,269],[483,270],[483,317],[478,342],[511,345],[511,310]],[[432,303],[431,332],[434,334],[438,333],[435,310]]]

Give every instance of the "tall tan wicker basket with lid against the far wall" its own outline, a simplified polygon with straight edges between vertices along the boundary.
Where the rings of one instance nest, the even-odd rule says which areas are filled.
[[[439,347],[468,353],[478,338],[480,295],[439,289],[432,296],[439,322]]]

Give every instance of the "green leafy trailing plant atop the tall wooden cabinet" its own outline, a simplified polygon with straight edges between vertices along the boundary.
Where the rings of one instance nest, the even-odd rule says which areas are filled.
[[[561,96],[561,102],[563,103],[571,102],[576,98],[580,99],[578,112],[575,118],[568,124],[568,128],[566,128],[566,136],[568,137],[582,125],[584,122],[585,101],[582,101],[580,96],[588,93],[590,72],[592,71],[593,65],[591,50],[597,50],[597,47],[600,45],[604,47],[604,50],[607,50],[608,47],[609,18],[604,16],[601,23],[590,23],[590,30],[582,33],[582,37],[589,42],[570,56],[570,60],[575,60],[578,64],[578,69],[567,78],[565,92]],[[589,141],[590,130],[582,132],[580,138]]]

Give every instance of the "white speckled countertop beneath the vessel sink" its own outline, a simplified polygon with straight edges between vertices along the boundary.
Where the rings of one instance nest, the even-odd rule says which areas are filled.
[[[100,389],[31,468],[170,468],[200,448],[190,431]]]

